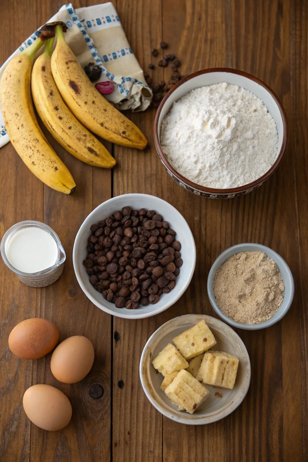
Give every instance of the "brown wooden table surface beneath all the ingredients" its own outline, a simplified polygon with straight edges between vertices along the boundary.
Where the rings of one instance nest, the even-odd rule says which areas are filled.
[[[74,7],[91,3],[95,1],[76,1]],[[72,196],[44,187],[11,144],[1,149],[1,237],[18,221],[43,221],[59,235],[67,258],[60,280],[42,289],[21,284],[0,262],[0,461],[308,460],[308,2],[115,0],[114,5],[145,70],[151,48],[163,39],[182,61],[181,73],[234,67],[264,80],[287,112],[288,149],[267,182],[229,200],[200,198],[172,181],[153,143],[155,109],[128,114],[149,139],[150,149],[109,145],[117,161],[113,172],[83,164],[52,142],[78,185]],[[3,0],[0,61],[60,6],[56,0],[38,0],[31,7],[25,1]],[[170,69],[154,72],[158,82],[168,79]],[[169,310],[137,321],[109,316],[91,304],[72,267],[74,238],[85,217],[101,202],[129,192],[157,195],[173,204],[190,225],[197,246],[186,293]],[[242,242],[265,244],[282,255],[294,276],[294,302],[271,328],[238,331],[252,368],[242,405],[211,425],[175,423],[158,413],[143,392],[141,352],[149,336],[175,316],[215,316],[206,291],[208,271],[224,249]],[[10,352],[11,329],[30,317],[55,322],[60,340],[76,334],[91,340],[95,362],[83,381],[57,382],[50,372],[50,354],[25,361]],[[123,388],[118,387],[120,380]],[[72,420],[62,431],[45,432],[26,418],[22,397],[36,383],[58,387],[72,402]],[[95,383],[104,390],[97,400],[88,393]]]

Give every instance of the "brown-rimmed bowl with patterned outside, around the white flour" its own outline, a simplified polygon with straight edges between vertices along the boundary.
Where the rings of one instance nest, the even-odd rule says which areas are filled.
[[[230,85],[238,85],[243,87],[260,98],[276,122],[278,131],[278,151],[272,167],[257,180],[243,186],[238,186],[237,188],[229,189],[207,188],[188,180],[180,173],[178,173],[169,163],[163,153],[162,146],[160,145],[160,129],[162,126],[163,118],[168,114],[173,103],[195,88],[214,85],[221,82],[227,82]],[[247,194],[258,186],[261,186],[261,184],[265,182],[267,178],[269,178],[277,169],[284,156],[284,152],[288,143],[288,121],[283,105],[280,103],[278,97],[271,90],[271,88],[264,82],[246,72],[237,71],[236,69],[227,69],[225,67],[216,67],[213,69],[204,69],[202,71],[188,75],[185,77],[185,79],[180,80],[176,85],[174,85],[171,90],[168,91],[168,93],[166,93],[162,102],[158,106],[154,120],[154,142],[159,158],[162,161],[165,169],[180,186],[192,192],[193,194],[209,197],[211,199],[231,198],[242,194]]]

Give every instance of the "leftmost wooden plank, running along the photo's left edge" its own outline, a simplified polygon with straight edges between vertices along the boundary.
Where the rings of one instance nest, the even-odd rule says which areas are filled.
[[[9,55],[36,28],[36,7],[32,12],[13,2],[0,8],[0,61]],[[0,232],[23,220],[43,219],[43,184],[27,169],[11,144],[0,151]],[[0,259],[0,460],[29,460],[30,422],[22,398],[31,385],[31,361],[16,358],[7,339],[12,328],[25,318],[35,317],[40,292],[24,286]]]

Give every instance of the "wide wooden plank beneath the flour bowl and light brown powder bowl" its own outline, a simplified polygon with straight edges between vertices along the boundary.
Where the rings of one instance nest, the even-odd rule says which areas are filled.
[[[247,2],[216,2],[205,6],[204,2],[193,1],[187,6],[184,21],[175,2],[165,1],[163,38],[186,63],[185,73],[216,66],[233,66],[253,73],[272,86],[290,113],[288,8],[288,2],[284,2],[281,11],[278,2],[272,2],[268,8],[266,2],[255,6]],[[198,40],[193,40],[196,35]],[[204,44],[203,49],[200,44]],[[295,185],[289,174],[292,156],[289,150],[277,174],[261,188],[232,201],[191,197],[175,185],[176,207],[191,225],[200,253],[190,287],[174,307],[159,315],[161,323],[191,311],[213,316],[206,278],[211,263],[230,245],[264,243],[284,256],[296,275],[296,237],[288,229],[288,223],[296,218]],[[287,203],[285,191],[289,192]],[[170,201],[170,193],[167,198]],[[252,363],[252,384],[247,398],[233,414],[211,426],[186,427],[163,418],[163,460],[199,461],[203,454],[215,461],[288,461],[290,454],[301,460],[301,401],[290,401],[294,377],[287,366],[294,364],[300,371],[298,310],[295,298],[292,310],[280,324],[262,332],[239,332]],[[295,380],[296,389],[300,390],[300,374]],[[299,418],[292,419],[292,415]]]

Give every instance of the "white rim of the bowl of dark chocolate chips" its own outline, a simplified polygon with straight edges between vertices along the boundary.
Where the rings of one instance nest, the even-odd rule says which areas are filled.
[[[94,298],[91,293],[88,291],[87,287],[85,286],[85,283],[83,281],[83,278],[81,277],[81,274],[79,274],[79,269],[78,269],[78,266],[79,266],[79,261],[77,259],[77,245],[78,245],[78,242],[79,242],[79,239],[80,239],[80,236],[83,232],[83,229],[85,227],[85,222],[90,218],[92,217],[96,212],[97,212],[97,209],[102,207],[103,204],[106,204],[107,202],[110,203],[110,202],[114,202],[116,201],[119,197],[123,197],[123,196],[126,196],[127,197],[127,200],[129,201],[130,199],[133,199],[132,196],[143,196],[145,201],[146,201],[146,198],[147,197],[154,197],[155,199],[157,199],[158,201],[163,201],[165,202],[166,204],[168,204],[169,207],[171,207],[172,209],[174,209],[174,213],[178,214],[181,216],[181,218],[185,221],[186,225],[187,225],[187,232],[188,232],[188,235],[189,237],[191,238],[191,242],[192,242],[192,248],[191,248],[191,251],[193,252],[193,264],[192,264],[192,268],[190,270],[190,273],[189,273],[189,276],[188,276],[188,279],[187,281],[185,282],[185,284],[183,285],[182,289],[180,291],[177,292],[177,296],[175,297],[175,299],[172,301],[172,303],[165,303],[163,304],[162,307],[160,308],[155,308],[155,305],[152,305],[153,306],[153,310],[150,312],[150,313],[138,313],[138,309],[137,310],[131,310],[132,313],[129,313],[129,314],[126,314],[126,313],[116,313],[115,311],[109,309],[108,307],[104,306],[103,304],[101,304],[100,302],[97,301],[96,298]],[[165,201],[164,199],[161,199],[160,197],[157,197],[157,196],[154,196],[154,195],[151,195],[151,194],[142,194],[142,193],[127,193],[127,194],[120,194],[118,196],[114,196],[114,197],[111,197],[110,199],[107,199],[107,201],[104,201],[102,202],[101,204],[99,204],[97,207],[95,207],[95,209],[92,210],[91,213],[89,213],[84,221],[82,222],[82,224],[80,225],[79,227],[79,230],[76,234],[76,237],[75,237],[75,241],[74,241],[74,245],[73,245],[73,251],[72,251],[72,262],[73,262],[73,268],[74,268],[74,272],[75,272],[75,276],[77,278],[77,281],[79,283],[79,286],[81,287],[81,290],[84,292],[85,296],[87,298],[89,298],[89,300],[95,305],[97,306],[97,308],[99,308],[100,310],[102,311],[105,311],[105,313],[108,313],[109,315],[111,316],[116,316],[116,317],[120,317],[120,318],[124,318],[124,319],[144,319],[144,318],[148,318],[148,317],[151,317],[151,316],[155,316],[157,315],[158,313],[162,313],[163,311],[167,310],[168,308],[170,308],[170,306],[174,305],[178,300],[179,298],[181,298],[181,296],[184,294],[184,292],[187,290],[192,278],[193,278],[193,274],[194,274],[194,270],[195,270],[195,267],[196,267],[196,258],[197,258],[197,251],[196,251],[196,243],[195,243],[195,240],[194,240],[194,237],[193,237],[193,233],[186,221],[186,219],[184,218],[184,216],[171,204],[169,204],[169,202]]]

